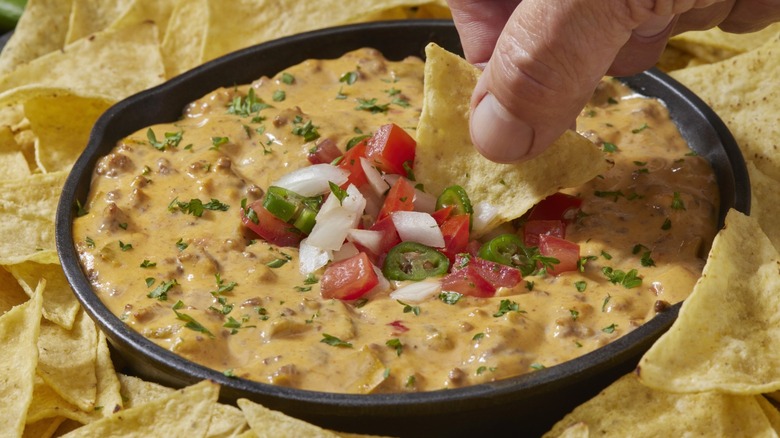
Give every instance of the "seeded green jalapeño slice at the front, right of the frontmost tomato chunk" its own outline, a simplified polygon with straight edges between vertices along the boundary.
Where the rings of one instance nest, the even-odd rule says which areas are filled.
[[[420,281],[444,275],[450,267],[446,255],[417,242],[401,242],[387,253],[382,273],[389,280]]]

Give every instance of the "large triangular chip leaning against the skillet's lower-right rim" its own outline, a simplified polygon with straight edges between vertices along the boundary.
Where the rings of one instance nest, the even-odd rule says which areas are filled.
[[[780,389],[780,254],[731,210],[677,321],[642,357],[642,382],[673,392]]]

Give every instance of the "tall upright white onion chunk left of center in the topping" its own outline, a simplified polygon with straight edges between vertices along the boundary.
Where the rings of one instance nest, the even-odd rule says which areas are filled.
[[[347,238],[347,232],[357,227],[365,206],[365,198],[352,184],[347,187],[347,196],[343,200],[339,201],[333,195],[328,196],[307,238],[309,245],[337,251]]]

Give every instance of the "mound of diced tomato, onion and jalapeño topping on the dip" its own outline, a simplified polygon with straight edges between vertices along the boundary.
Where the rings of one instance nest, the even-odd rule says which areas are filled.
[[[342,153],[334,142],[320,142],[310,151],[311,166],[241,209],[259,237],[300,247],[301,274],[324,270],[323,297],[348,301],[394,289],[409,300],[405,288],[421,281],[425,287],[412,288],[417,301],[441,291],[491,297],[523,277],[577,269],[579,245],[565,234],[580,198],[556,193],[515,232],[477,240],[487,230],[473,232],[474,207],[461,186],[433,197],[415,184],[416,143],[403,128],[383,125],[351,143]]]

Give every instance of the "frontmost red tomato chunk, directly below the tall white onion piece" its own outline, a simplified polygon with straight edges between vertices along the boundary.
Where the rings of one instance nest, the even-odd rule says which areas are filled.
[[[361,252],[325,268],[320,279],[323,298],[355,300],[379,284],[371,261]]]

